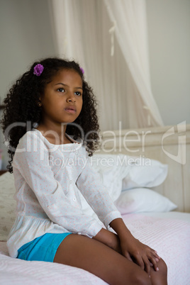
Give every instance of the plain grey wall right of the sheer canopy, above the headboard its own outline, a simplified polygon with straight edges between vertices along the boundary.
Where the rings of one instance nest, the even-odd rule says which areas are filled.
[[[152,94],[165,125],[190,123],[190,1],[146,4]]]

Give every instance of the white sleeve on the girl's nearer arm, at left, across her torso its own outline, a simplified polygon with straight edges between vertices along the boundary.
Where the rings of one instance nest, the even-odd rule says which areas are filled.
[[[28,132],[26,137],[27,140],[21,139],[13,160],[13,167],[18,169],[26,183],[23,189],[30,187],[52,222],[72,233],[89,237],[96,235],[101,225],[94,218],[86,216],[79,203],[71,203],[67,193],[73,186],[69,179],[65,179],[64,185],[55,179],[56,175],[50,166],[50,154],[39,135]],[[23,197],[23,208],[27,207],[26,200]]]

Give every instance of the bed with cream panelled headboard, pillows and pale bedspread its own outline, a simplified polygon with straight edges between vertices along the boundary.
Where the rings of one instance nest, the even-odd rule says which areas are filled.
[[[135,238],[157,250],[169,285],[190,280],[190,125],[102,133],[91,163]],[[0,283],[106,284],[62,264],[9,257],[6,238],[15,217],[13,176],[0,177]],[[83,207],[92,215],[83,200]]]

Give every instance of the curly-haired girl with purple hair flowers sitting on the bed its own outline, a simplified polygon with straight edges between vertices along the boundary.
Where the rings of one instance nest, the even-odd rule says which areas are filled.
[[[166,264],[131,235],[90,166],[99,123],[83,73],[74,61],[47,58],[4,99],[17,201],[9,253],[79,267],[108,284],[167,284]],[[99,220],[83,211],[81,194]]]

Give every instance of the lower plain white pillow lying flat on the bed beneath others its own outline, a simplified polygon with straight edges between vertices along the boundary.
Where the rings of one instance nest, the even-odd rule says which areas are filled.
[[[137,188],[123,191],[115,201],[121,214],[140,212],[169,212],[177,205],[151,189]]]

